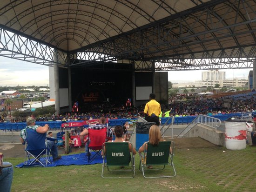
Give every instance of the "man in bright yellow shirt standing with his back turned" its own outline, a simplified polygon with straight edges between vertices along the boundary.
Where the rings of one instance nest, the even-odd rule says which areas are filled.
[[[146,103],[144,108],[144,113],[146,114],[145,119],[148,122],[155,122],[155,125],[159,126],[159,115],[161,113],[161,106],[155,100],[155,94],[151,93],[149,95],[149,102]]]

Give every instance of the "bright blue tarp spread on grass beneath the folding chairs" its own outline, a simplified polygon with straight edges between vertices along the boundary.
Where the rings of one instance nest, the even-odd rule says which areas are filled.
[[[91,157],[94,155],[95,152],[91,152]],[[52,160],[52,157],[51,157]],[[88,162],[88,157],[85,153],[79,154],[72,154],[72,155],[64,155],[61,156],[61,159],[57,161],[52,161],[52,164],[48,164],[47,167],[54,167],[54,166],[71,166],[71,165],[93,165],[97,163],[102,163],[103,159],[101,156],[97,156],[93,161]],[[40,166],[40,164],[34,164],[32,166]],[[25,166],[24,162],[20,163],[19,165],[15,166],[17,168],[22,167],[32,167],[32,166]]]

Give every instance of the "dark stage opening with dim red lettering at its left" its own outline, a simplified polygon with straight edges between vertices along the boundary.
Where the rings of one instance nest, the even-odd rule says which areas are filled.
[[[125,64],[124,64],[125,65]],[[90,111],[91,107],[99,104],[125,105],[132,98],[131,71],[73,68],[72,102],[78,102],[80,111]]]

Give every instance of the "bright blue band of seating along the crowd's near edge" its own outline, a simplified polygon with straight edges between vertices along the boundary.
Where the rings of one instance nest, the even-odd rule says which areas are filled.
[[[230,114],[219,114],[214,115],[212,117],[220,119],[221,121],[225,121],[226,119],[229,119],[232,116],[239,116],[241,117],[241,113],[230,113]],[[196,116],[186,116],[186,117],[175,117],[174,125],[186,125],[191,123]],[[161,123],[164,125],[166,121],[168,120],[168,117],[161,118]],[[122,126],[126,121],[128,121],[130,124],[136,122],[137,119],[109,119],[108,126],[114,127],[114,126]],[[72,122],[72,121],[69,121]],[[78,122],[78,121],[74,121]],[[36,121],[36,125],[44,126],[45,124],[48,124],[50,126],[51,130],[59,130],[61,128],[61,121]],[[172,123],[171,118],[168,120],[167,125]],[[26,122],[23,123],[0,123],[0,131],[20,131],[26,127]],[[84,125],[84,127],[88,127],[88,125]]]

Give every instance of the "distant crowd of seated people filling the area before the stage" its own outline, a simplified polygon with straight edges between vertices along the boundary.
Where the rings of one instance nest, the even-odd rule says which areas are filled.
[[[170,104],[162,104],[162,113],[167,111],[169,115],[175,117],[203,115],[219,115],[225,113],[239,112],[255,112],[256,102],[254,97],[249,99],[237,99],[221,97],[216,99],[207,99],[202,97],[191,97],[189,100],[177,101],[177,98],[172,97],[174,102]],[[104,110],[103,110],[104,108]],[[123,105],[92,105],[91,111],[86,113],[61,113],[52,115],[51,117],[36,118],[36,121],[69,121],[69,120],[88,120],[99,119],[102,115],[108,119],[136,119],[138,116],[144,117],[144,105],[126,107]],[[163,117],[163,116],[162,116]],[[26,121],[26,119],[24,120]],[[0,122],[6,122],[4,117],[0,117]],[[10,122],[22,122],[18,119],[12,119]]]

